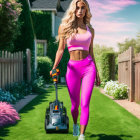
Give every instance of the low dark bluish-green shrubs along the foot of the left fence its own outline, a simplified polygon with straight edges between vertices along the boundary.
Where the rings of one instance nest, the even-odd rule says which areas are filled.
[[[24,98],[24,96],[38,91],[38,88],[42,87],[43,84],[44,79],[42,76],[37,76],[30,83],[25,81],[15,82],[6,90],[0,88],[0,101],[15,104],[19,99]]]

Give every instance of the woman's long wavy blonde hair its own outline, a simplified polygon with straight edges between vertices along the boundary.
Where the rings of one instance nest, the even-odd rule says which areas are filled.
[[[85,16],[83,17],[83,22],[84,24],[88,25],[89,28],[92,28],[92,25],[90,24],[90,19],[92,17],[92,14],[90,12],[88,2],[86,0],[72,0],[63,18],[61,19],[60,25],[63,25],[63,33],[58,34],[56,36],[56,42],[59,42],[61,37],[67,39],[72,34],[75,35],[78,32],[77,23],[76,23],[76,15],[75,15],[77,2],[83,2],[85,4],[86,13],[85,13]]]

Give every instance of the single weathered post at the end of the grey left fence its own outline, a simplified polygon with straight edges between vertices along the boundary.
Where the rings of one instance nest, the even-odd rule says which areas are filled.
[[[30,49],[26,49],[26,57],[27,57],[27,82],[31,81],[31,51]]]

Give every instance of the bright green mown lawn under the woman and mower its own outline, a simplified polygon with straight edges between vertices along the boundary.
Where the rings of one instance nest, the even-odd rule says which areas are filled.
[[[0,140],[77,140],[72,135],[71,102],[66,86],[58,85],[58,98],[67,108],[68,134],[46,134],[44,130],[46,107],[55,99],[52,85],[19,112],[21,121],[0,129]],[[85,135],[86,140],[140,140],[140,120],[94,88]]]

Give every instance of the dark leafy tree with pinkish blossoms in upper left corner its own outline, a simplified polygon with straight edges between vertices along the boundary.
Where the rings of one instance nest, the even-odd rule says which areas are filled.
[[[0,49],[13,47],[13,41],[20,34],[18,17],[22,11],[17,0],[0,0]]]

